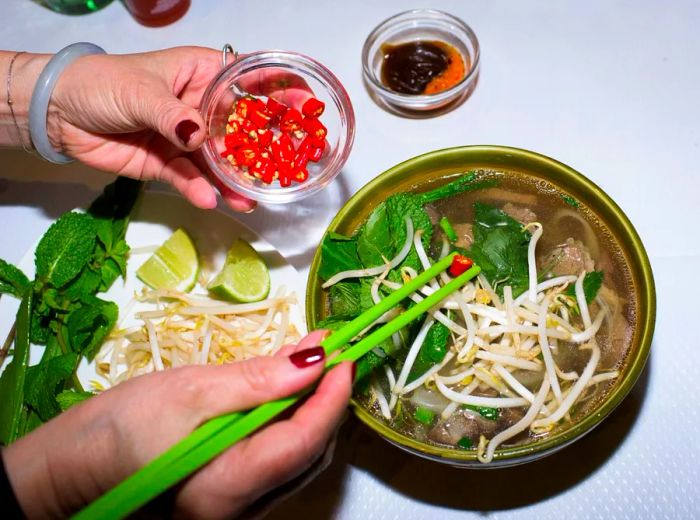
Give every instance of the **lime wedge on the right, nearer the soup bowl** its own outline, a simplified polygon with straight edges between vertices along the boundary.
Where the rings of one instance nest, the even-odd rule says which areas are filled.
[[[270,271],[258,252],[245,240],[238,239],[226,255],[223,269],[207,289],[222,300],[258,302],[270,293]]]

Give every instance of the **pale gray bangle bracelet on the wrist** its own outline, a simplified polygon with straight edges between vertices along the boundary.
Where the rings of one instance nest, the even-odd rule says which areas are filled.
[[[46,130],[46,116],[51,94],[63,70],[78,58],[90,54],[105,54],[105,51],[102,47],[87,42],[73,43],[65,47],[46,64],[34,86],[29,104],[29,135],[36,151],[47,161],[64,164],[73,160],[51,146]]]

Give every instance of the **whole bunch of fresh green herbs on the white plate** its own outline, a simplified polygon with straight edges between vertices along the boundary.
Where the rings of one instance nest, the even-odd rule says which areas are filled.
[[[0,377],[0,443],[9,444],[92,395],[75,376],[117,321],[113,302],[97,297],[126,275],[126,229],[141,183],[120,178],[85,213],[62,215],[35,252],[35,278],[0,260],[0,294],[22,299],[12,361]],[[29,345],[45,345],[28,366]]]

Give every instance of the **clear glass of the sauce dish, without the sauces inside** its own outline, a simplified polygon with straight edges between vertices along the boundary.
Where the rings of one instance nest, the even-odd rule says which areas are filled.
[[[453,46],[465,60],[462,81],[435,94],[402,94],[381,81],[382,46],[416,40],[437,40]],[[362,70],[370,93],[391,111],[427,113],[446,111],[464,101],[476,86],[479,74],[479,40],[459,18],[435,9],[413,9],[384,20],[370,33],[362,47]],[[428,115],[428,114],[425,114]]]

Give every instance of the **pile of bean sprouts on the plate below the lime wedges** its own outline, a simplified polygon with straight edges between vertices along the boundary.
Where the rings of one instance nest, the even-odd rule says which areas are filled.
[[[124,318],[100,349],[97,373],[113,386],[170,367],[275,354],[282,345],[300,339],[290,320],[296,303],[296,296],[286,294],[284,287],[274,297],[242,304],[206,294],[144,289],[126,305]],[[135,306],[139,311],[132,316]],[[125,326],[127,321],[133,325]]]

